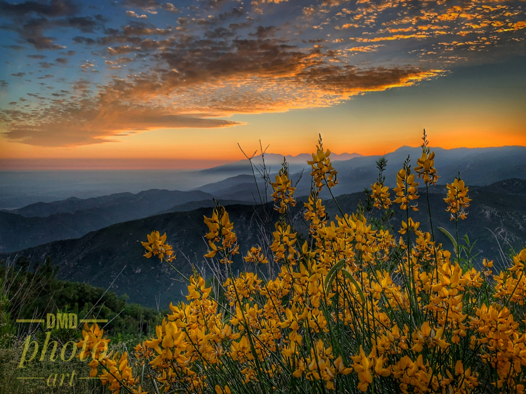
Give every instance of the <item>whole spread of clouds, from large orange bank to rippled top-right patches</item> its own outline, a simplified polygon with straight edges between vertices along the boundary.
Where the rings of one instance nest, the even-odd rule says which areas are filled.
[[[526,35],[515,0],[418,7],[403,0],[213,0],[185,4],[180,15],[171,3],[121,0],[113,22],[62,0],[4,3],[4,28],[34,48],[68,45],[38,71],[89,53],[89,61],[68,68],[75,82],[56,75],[54,82],[71,88],[43,93],[50,87],[37,86],[39,94],[28,90],[31,110],[0,111],[9,139],[42,146],[107,142],[161,127],[230,127],[239,123],[221,118],[332,106],[437,78],[452,65],[487,58],[488,48],[491,56],[523,53]],[[133,19],[123,23],[123,12]]]

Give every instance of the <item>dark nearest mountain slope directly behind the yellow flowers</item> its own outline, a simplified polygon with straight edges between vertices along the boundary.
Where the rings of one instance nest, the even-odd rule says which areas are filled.
[[[431,188],[436,193],[430,194],[430,201],[437,241],[450,248],[449,240],[437,228],[442,226],[450,232],[454,231],[453,222],[449,221],[449,214],[444,210],[443,189],[443,186]],[[509,247],[517,250],[526,244],[525,190],[526,181],[519,179],[470,188],[473,201],[468,219],[460,223],[459,231],[460,234],[468,233],[472,242],[477,241],[475,251],[480,253],[478,261],[482,257],[499,259],[501,247],[506,252]],[[365,199],[364,193],[342,195],[338,201],[345,212],[352,212],[356,210],[360,199]],[[411,212],[415,220],[422,222],[422,230],[429,229],[425,200],[421,196],[418,200],[420,210]],[[297,206],[301,209],[302,203],[298,201]],[[335,217],[338,213],[336,205],[326,201],[326,206],[330,217]],[[230,205],[227,211],[238,234],[241,254],[244,254],[251,245],[260,242],[254,208],[250,205]],[[146,240],[146,234],[152,230],[166,231],[167,241],[174,245],[177,254],[178,269],[188,274],[191,264],[199,267],[204,265],[203,255],[207,245],[203,240],[206,233],[203,215],[210,214],[211,208],[201,208],[150,216],[114,224],[79,239],[56,241],[18,253],[3,254],[0,258],[13,259],[17,255],[24,255],[32,261],[42,261],[46,256],[51,256],[53,263],[60,267],[59,276],[62,278],[102,287],[108,287],[115,281],[113,290],[117,294],[128,294],[131,302],[154,306],[156,299],[160,298],[161,306],[168,305],[170,301],[181,299],[180,291],[184,291],[186,286],[178,281],[177,275],[167,266],[159,264],[155,258],[143,257],[140,241]],[[305,231],[299,215],[296,216],[298,230]],[[405,212],[397,207],[392,221],[395,229],[399,228],[404,216]],[[497,235],[497,239],[492,232]],[[495,265],[498,264],[496,262]],[[241,255],[237,257],[235,265],[235,269],[240,268]]]

